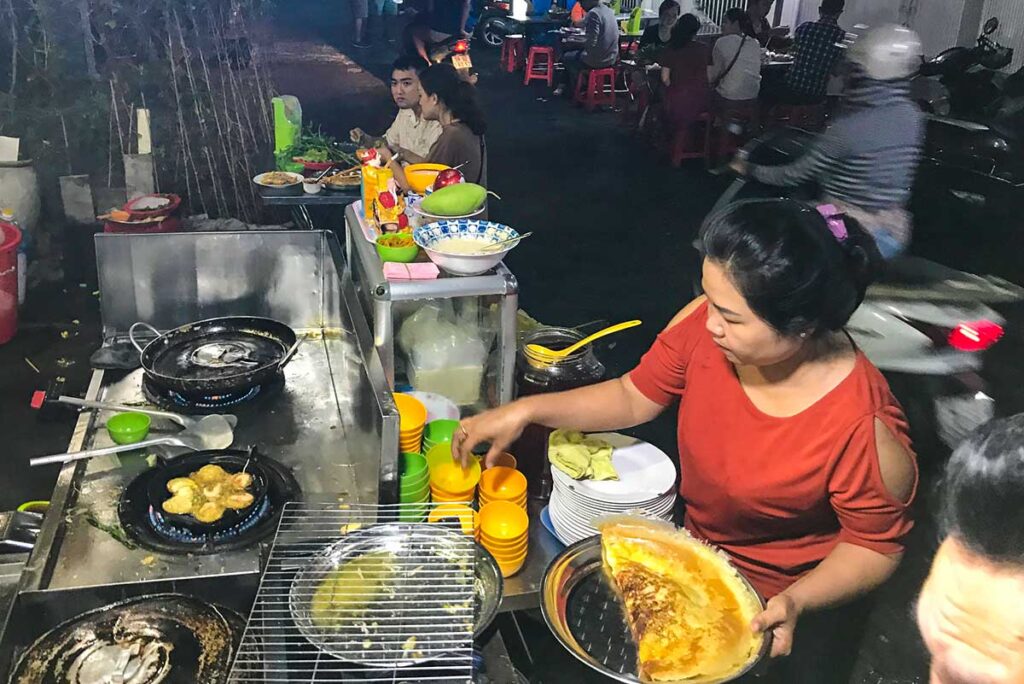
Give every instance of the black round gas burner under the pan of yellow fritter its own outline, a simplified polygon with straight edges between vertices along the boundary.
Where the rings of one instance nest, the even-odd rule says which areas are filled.
[[[221,455],[247,459],[252,470],[262,473],[266,480],[266,496],[237,524],[227,529],[202,535],[168,520],[154,505],[151,484],[160,486],[160,477],[166,477],[165,467],[151,468],[137,476],[121,495],[118,518],[128,537],[139,546],[161,553],[209,554],[248,548],[273,533],[286,502],[299,496],[299,484],[283,464],[240,451],[197,452],[180,456],[171,463],[198,470]],[[168,495],[170,496],[170,495]]]

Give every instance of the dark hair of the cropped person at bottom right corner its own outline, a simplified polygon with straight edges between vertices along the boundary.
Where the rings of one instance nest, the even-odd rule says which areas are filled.
[[[939,524],[971,551],[1024,565],[1024,414],[971,433],[946,464]]]

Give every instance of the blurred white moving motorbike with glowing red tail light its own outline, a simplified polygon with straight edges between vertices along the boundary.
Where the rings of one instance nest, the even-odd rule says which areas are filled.
[[[748,144],[752,163],[780,165],[804,153],[811,133],[775,131]],[[813,187],[782,188],[737,177],[712,209],[751,198],[812,202]],[[699,279],[697,279],[699,281]],[[696,284],[699,293],[699,283]],[[1024,300],[1024,288],[915,257],[887,264],[847,324],[847,332],[889,379],[919,446],[952,447],[994,416],[981,376],[984,353],[1002,337],[1006,318],[993,306]]]

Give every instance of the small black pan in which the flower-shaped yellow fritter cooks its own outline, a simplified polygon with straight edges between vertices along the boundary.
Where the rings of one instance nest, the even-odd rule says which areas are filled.
[[[253,482],[248,491],[253,496],[253,503],[238,510],[226,509],[224,515],[214,522],[201,522],[191,515],[178,515],[165,511],[163,503],[173,496],[167,490],[167,483],[175,477],[188,477],[190,473],[205,465],[220,466],[232,475],[243,470],[252,475]],[[213,535],[241,523],[262,503],[266,497],[266,474],[259,463],[259,458],[254,454],[238,451],[197,452],[178,457],[168,462],[167,465],[159,466],[158,471],[150,479],[146,494],[153,510],[159,513],[160,517],[168,524],[184,527],[197,535]]]

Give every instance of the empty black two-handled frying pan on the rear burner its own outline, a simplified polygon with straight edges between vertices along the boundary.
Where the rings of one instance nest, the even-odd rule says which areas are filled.
[[[157,339],[145,347],[135,331]],[[190,323],[163,335],[144,323],[128,331],[145,375],[186,396],[214,396],[248,390],[270,380],[298,347],[295,331],[272,318],[227,316]]]

